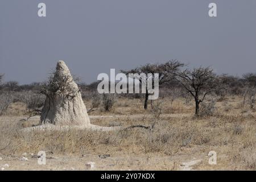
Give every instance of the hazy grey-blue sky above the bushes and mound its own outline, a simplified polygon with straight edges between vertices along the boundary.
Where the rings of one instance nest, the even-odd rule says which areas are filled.
[[[208,16],[210,2],[217,18]],[[0,1],[5,81],[46,80],[58,60],[89,83],[110,68],[170,59],[217,73],[256,72],[256,0]]]

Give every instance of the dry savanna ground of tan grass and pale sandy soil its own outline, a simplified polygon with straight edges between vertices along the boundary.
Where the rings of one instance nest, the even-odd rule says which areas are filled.
[[[87,109],[90,100],[85,101]],[[90,122],[100,126],[151,126],[117,131],[30,131],[20,129],[39,122],[28,121],[21,102],[9,106],[0,117],[0,167],[4,170],[255,170],[256,110],[229,96],[217,101],[214,114],[195,117],[194,102],[177,98],[171,104],[160,99],[159,118],[143,109],[140,99],[119,98],[110,112],[96,108]],[[46,151],[46,165],[33,154]],[[217,164],[208,163],[209,151],[217,152]],[[102,159],[98,155],[110,155]],[[28,160],[22,160],[22,156]],[[23,158],[23,159],[24,159]],[[8,164],[6,166],[5,164]]]

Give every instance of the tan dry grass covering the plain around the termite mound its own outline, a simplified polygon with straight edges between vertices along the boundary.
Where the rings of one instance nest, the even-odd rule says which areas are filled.
[[[14,104],[7,115],[0,117],[0,154],[21,155],[23,152],[52,151],[56,155],[80,156],[82,154],[111,154],[114,156],[171,156],[185,160],[189,156],[205,158],[208,152],[217,152],[216,166],[205,158],[195,169],[256,169],[256,119],[255,111],[246,113],[238,107],[241,98],[229,97],[217,102],[217,113],[210,117],[193,117],[193,102],[184,104],[181,98],[168,105],[162,100],[163,110],[154,131],[130,129],[127,131],[31,131],[22,132],[23,107]],[[87,106],[90,101],[86,102]],[[17,109],[20,108],[20,109]],[[230,109],[227,109],[230,107]],[[88,108],[89,109],[89,108]],[[19,115],[10,117],[11,113]],[[131,115],[132,114],[132,115]],[[150,110],[144,111],[141,100],[119,99],[114,109],[106,113],[100,108],[90,115],[118,115],[114,118],[92,118],[101,126],[150,126],[154,119]],[[36,120],[28,121],[29,126]],[[186,156],[186,157],[185,157]],[[141,157],[143,158],[143,157]],[[155,159],[157,160],[157,159]],[[139,169],[178,169],[168,160],[158,166],[147,166],[143,159]],[[122,163],[125,166],[125,162]],[[128,165],[128,164],[127,164]],[[146,165],[146,166],[145,166]]]

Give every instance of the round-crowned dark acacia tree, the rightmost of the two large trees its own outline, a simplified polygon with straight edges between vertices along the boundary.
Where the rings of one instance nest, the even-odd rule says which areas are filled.
[[[185,69],[176,74],[175,79],[189,92],[195,99],[195,114],[199,115],[199,105],[204,101],[207,94],[218,89],[218,77],[213,73],[213,69],[207,67]]]

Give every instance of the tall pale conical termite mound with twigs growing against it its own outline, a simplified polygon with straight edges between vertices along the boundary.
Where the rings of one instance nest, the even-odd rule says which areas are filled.
[[[46,95],[46,101],[40,117],[41,125],[90,125],[79,86],[64,61],[58,61],[54,75],[43,84],[42,93]]]

